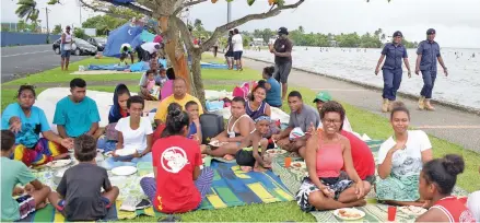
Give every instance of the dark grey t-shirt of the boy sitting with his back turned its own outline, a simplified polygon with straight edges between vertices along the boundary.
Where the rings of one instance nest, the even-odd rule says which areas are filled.
[[[57,192],[65,198],[68,221],[101,220],[107,214],[101,189],[112,187],[107,171],[91,163],[80,163],[63,174]]]

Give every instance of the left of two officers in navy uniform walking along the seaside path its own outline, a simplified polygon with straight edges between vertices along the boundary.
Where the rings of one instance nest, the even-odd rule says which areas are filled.
[[[400,31],[394,33],[393,43],[388,43],[385,45],[375,69],[375,75],[378,75],[379,67],[386,57],[387,59],[382,67],[382,70],[384,72],[384,92],[382,94],[384,103],[382,105],[382,111],[384,113],[391,110],[390,104],[393,104],[397,98],[397,91],[398,89],[400,89],[401,75],[403,72],[401,70],[401,60],[403,60],[405,67],[407,67],[408,78],[411,78],[407,48],[401,44],[402,38],[403,35]]]

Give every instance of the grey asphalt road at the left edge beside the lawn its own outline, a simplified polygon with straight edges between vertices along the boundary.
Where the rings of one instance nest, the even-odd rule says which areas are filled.
[[[70,61],[84,58],[72,55]],[[51,44],[1,48],[1,83],[59,66],[60,56],[54,52]]]

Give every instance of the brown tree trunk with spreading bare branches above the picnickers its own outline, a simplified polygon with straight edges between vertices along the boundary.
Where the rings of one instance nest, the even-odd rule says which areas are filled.
[[[241,26],[254,20],[264,20],[276,16],[283,10],[300,7],[305,0],[295,0],[295,3],[292,4],[285,4],[284,0],[269,0],[268,3],[271,5],[269,10],[261,13],[247,14],[230,23],[218,26],[210,37],[202,42],[199,46],[194,46],[192,33],[188,31],[188,26],[182,20],[182,15],[188,10],[188,8],[198,3],[207,2],[208,0],[136,0],[134,4],[131,3],[131,1],[125,0],[86,1],[87,0],[80,0],[82,5],[85,8],[90,8],[96,12],[105,12],[107,14],[112,14],[113,16],[121,16],[121,14],[116,14],[113,10],[112,3],[115,3],[115,8],[127,8],[155,19],[157,22],[155,32],[162,33],[164,36],[164,51],[171,61],[175,73],[178,77],[186,78],[190,92],[197,96],[200,102],[204,103],[204,91],[200,67],[201,54],[209,50],[219,39],[219,37],[225,35],[229,30]],[[215,3],[216,0],[211,0],[211,2]],[[253,4],[254,2],[255,1],[249,0],[247,3]],[[58,0],[52,0],[52,3],[58,3]],[[184,45],[192,58],[191,73],[188,71],[186,57],[184,56]]]

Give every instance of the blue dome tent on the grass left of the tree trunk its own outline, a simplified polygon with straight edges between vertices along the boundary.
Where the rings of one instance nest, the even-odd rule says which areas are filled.
[[[131,26],[130,23],[112,31],[108,35],[103,55],[106,57],[120,57],[120,46],[126,43],[131,45],[132,40],[142,32],[143,27]]]

